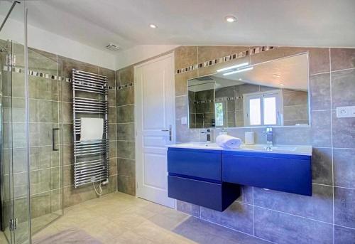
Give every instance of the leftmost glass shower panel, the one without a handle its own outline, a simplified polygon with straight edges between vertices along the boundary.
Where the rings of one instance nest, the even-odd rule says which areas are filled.
[[[1,230],[9,243],[27,243],[28,161],[26,160],[24,46],[8,41],[1,53]]]

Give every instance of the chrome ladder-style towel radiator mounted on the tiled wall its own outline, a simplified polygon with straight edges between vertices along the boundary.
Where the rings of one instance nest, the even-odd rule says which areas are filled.
[[[107,90],[107,76],[72,70],[75,188],[109,178]],[[102,139],[80,141],[81,117],[104,119]]]

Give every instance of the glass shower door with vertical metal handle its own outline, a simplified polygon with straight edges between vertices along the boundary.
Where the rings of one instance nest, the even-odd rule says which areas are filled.
[[[33,234],[62,215],[60,66],[57,55],[28,48],[30,198]]]

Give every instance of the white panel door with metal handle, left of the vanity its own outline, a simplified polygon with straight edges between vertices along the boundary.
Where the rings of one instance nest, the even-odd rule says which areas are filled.
[[[134,68],[137,196],[174,208],[168,198],[167,146],[175,142],[174,55]]]

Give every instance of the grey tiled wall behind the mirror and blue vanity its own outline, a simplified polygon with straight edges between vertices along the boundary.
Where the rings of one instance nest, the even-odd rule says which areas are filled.
[[[181,46],[175,49],[175,69],[237,53],[248,47]],[[288,55],[310,53],[312,127],[275,128],[275,144],[312,144],[313,196],[242,189],[241,197],[223,213],[178,201],[178,210],[222,226],[275,243],[354,243],[355,240],[355,119],[335,116],[338,106],[355,105],[355,49],[276,48],[231,61],[261,63]],[[231,63],[227,63],[230,65]],[[223,64],[222,64],[223,65]],[[215,73],[222,66],[175,75],[176,132],[178,142],[205,140],[202,129],[188,129],[187,78]],[[263,129],[228,129],[244,138],[256,132],[256,142],[265,143]],[[214,136],[219,130],[214,129]]]

